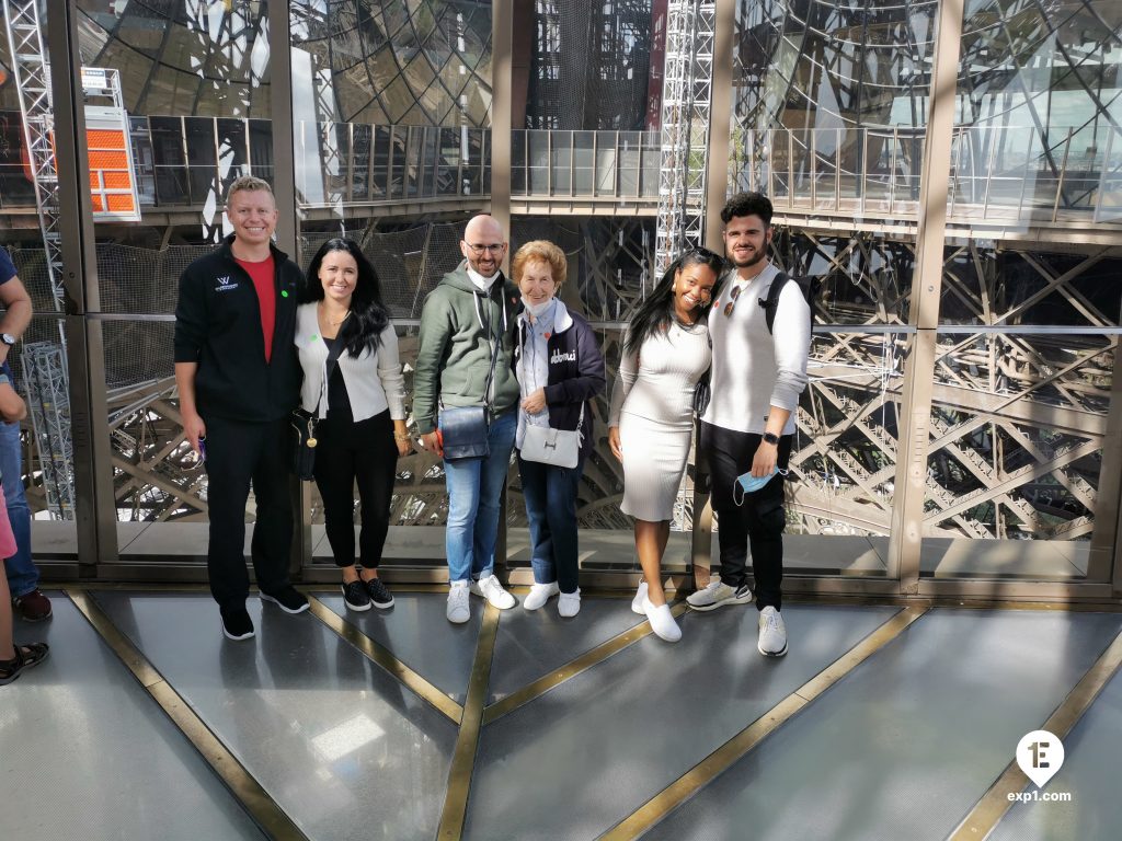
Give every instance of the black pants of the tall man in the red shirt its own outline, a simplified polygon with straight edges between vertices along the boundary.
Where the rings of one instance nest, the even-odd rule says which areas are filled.
[[[292,501],[288,496],[288,418],[245,423],[204,417],[206,424],[206,507],[210,540],[206,571],[211,594],[221,607],[243,604],[246,502],[252,484],[257,515],[250,555],[257,585],[276,592],[288,584]]]

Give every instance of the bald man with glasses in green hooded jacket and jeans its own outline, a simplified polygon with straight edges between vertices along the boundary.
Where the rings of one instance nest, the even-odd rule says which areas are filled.
[[[511,364],[518,290],[499,268],[506,249],[498,222],[486,215],[471,219],[460,240],[463,262],[441,278],[421,312],[413,415],[424,449],[443,456],[436,434],[441,407],[489,408],[489,455],[444,459],[448,620],[457,623],[471,616],[469,592],[500,610],[516,603],[493,574],[499,498],[511,465],[518,404]]]

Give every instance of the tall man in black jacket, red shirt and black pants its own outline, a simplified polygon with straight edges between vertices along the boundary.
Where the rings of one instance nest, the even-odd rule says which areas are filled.
[[[307,610],[288,581],[288,417],[300,399],[293,333],[304,276],[273,244],[277,206],[266,182],[233,182],[226,215],[233,234],[180,278],[175,382],[184,435],[206,465],[211,593],[226,636],[248,639],[254,623],[242,547],[250,483],[260,597],[288,613]]]

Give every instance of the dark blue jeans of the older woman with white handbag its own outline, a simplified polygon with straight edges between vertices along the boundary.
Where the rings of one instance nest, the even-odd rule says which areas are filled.
[[[577,489],[585,454],[576,468],[555,468],[518,459],[522,496],[533,544],[534,582],[552,584],[562,593],[577,592]]]

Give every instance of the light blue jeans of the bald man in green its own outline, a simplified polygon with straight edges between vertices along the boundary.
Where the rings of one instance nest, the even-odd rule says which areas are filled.
[[[449,581],[467,581],[490,575],[495,566],[495,540],[498,536],[498,510],[503,482],[511,468],[514,434],[518,428],[516,410],[491,420],[486,459],[444,461],[448,486]]]

